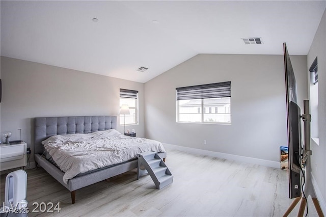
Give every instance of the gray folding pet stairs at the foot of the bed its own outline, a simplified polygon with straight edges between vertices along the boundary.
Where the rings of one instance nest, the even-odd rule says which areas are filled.
[[[161,189],[173,182],[173,175],[156,152],[149,151],[138,154],[137,179],[147,173],[153,179],[157,189]]]

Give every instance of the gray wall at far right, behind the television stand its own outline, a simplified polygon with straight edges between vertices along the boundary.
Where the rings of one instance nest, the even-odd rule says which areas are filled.
[[[314,40],[310,47],[307,63],[308,67],[314,59],[318,57],[318,118],[317,124],[319,129],[319,145],[311,141],[311,169],[320,192],[323,203],[326,201],[326,11],[324,12]],[[309,74],[307,76],[310,78]],[[309,82],[310,84],[310,82]],[[315,121],[312,114],[312,121]],[[316,167],[317,165],[317,167]],[[321,198],[318,198],[319,201]],[[324,204],[325,205],[325,204]],[[324,214],[326,208],[324,207]]]

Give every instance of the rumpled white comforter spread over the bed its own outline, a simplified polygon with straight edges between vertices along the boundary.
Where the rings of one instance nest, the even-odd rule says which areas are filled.
[[[68,135],[53,135],[42,142],[59,168],[63,181],[79,173],[119,164],[146,151],[165,152],[160,142],[128,137],[115,129]]]

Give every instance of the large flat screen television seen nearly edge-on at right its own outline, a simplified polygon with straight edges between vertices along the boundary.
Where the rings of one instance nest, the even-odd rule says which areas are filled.
[[[286,44],[283,43],[289,149],[289,197],[301,196],[301,110],[297,105],[296,81]]]

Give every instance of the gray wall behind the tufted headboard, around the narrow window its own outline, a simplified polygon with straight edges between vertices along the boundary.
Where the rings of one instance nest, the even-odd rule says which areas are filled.
[[[144,137],[142,83],[7,57],[1,57],[1,78],[1,129],[21,128],[28,147],[33,147],[34,117],[118,116],[120,88],[139,91],[140,124],[132,129]],[[123,126],[118,130],[122,133]]]

